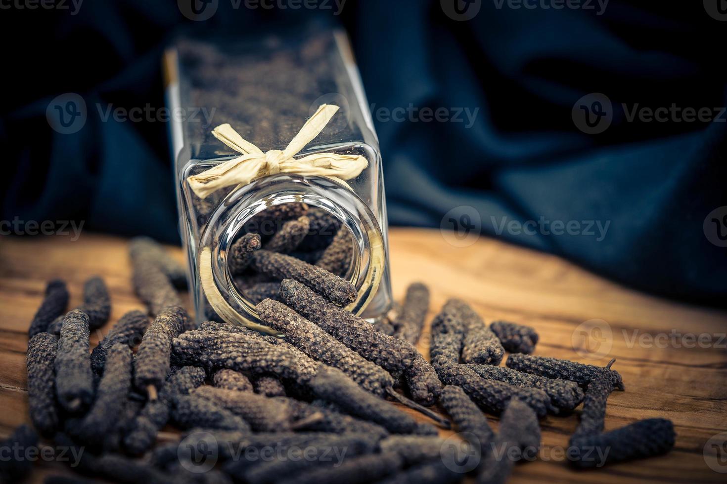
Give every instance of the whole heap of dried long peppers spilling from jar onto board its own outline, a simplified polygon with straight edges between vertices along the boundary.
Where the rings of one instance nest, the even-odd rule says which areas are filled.
[[[310,227],[332,222],[316,209],[289,212],[272,237],[244,234],[230,256],[231,271],[249,279],[241,289],[258,295],[261,319],[283,338],[219,321],[197,327],[177,293],[183,269],[147,238],[132,240],[129,253],[135,290],[153,319],[126,313],[93,350],[89,332],[111,310],[103,280],[89,279],[84,304],[67,313],[65,283],[49,282],[28,329],[33,427],[18,427],[0,447],[38,446],[41,435],[84,449],[74,471],[120,483],[454,483],[467,476],[500,483],[519,459],[494,449],[537,449],[538,420],[569,414],[580,403],[569,446],[582,451],[576,456],[603,458],[571,459],[575,467],[653,456],[674,445],[665,419],[603,432],[606,399],[624,390],[613,361],[599,367],[531,356],[533,328],[508,321],[488,327],[462,300],[449,300],[435,316],[430,364],[414,347],[428,288],[411,284],[388,321],[358,318],[342,308],[356,298],[340,277],[350,258],[345,229],[334,227],[320,245],[309,239]],[[307,239],[315,258],[284,254],[300,252]],[[499,366],[506,351],[506,366]],[[455,464],[427,417],[389,400],[441,427],[453,424],[476,450],[473,465]],[[485,412],[502,414],[499,432]],[[170,427],[181,432],[162,432]],[[208,448],[209,440],[214,466],[198,472],[198,456],[184,449]],[[243,452],[230,452],[235,446]],[[276,446],[313,449],[314,458],[246,458],[246,451]],[[324,459],[331,448],[342,457]],[[603,452],[585,451],[593,448]],[[30,464],[0,462],[0,477],[20,479]]]

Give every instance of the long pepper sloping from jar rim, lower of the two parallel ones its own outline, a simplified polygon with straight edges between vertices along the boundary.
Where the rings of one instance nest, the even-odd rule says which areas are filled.
[[[310,358],[340,369],[374,395],[383,396],[386,388],[393,386],[391,375],[385,369],[350,350],[283,303],[264,300],[257,305],[257,313],[268,326],[284,333],[288,343]]]

